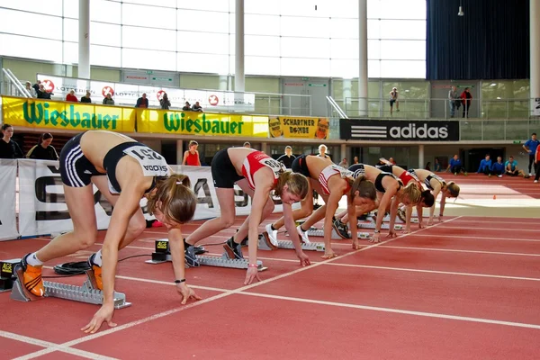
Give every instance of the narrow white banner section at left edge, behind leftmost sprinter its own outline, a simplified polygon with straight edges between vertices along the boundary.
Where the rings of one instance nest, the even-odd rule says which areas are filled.
[[[16,204],[17,160],[0,159],[0,240],[19,237]]]

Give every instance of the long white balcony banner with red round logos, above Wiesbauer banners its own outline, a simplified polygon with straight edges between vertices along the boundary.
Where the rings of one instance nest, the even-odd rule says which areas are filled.
[[[80,101],[80,98],[85,96],[86,90],[89,90],[92,94],[92,103],[103,103],[103,98],[111,94],[116,105],[135,106],[137,99],[142,94],[147,94],[148,106],[161,108],[159,100],[166,93],[173,109],[182,109],[185,102],[192,105],[199,102],[204,112],[255,111],[255,94],[219,90],[183,90],[175,87],[133,85],[43,74],[38,74],[37,77],[45,90],[52,93],[53,100],[65,100],[69,91],[75,90]]]

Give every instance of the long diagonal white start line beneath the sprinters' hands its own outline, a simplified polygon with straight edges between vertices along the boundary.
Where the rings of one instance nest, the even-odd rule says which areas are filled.
[[[452,221],[452,220],[455,220],[455,219],[459,219],[461,217],[456,217],[454,219],[451,219],[451,220],[448,220],[446,222],[449,222],[449,221]],[[439,223],[439,224],[436,224],[434,225],[432,228],[434,227],[437,227],[438,225],[440,225],[442,223]],[[426,228],[424,228],[426,229]],[[416,231],[413,231],[413,232],[410,232],[409,234],[405,234],[403,235],[401,238],[404,238],[404,237],[407,237],[407,236],[410,236],[410,235],[413,235],[415,234],[416,232],[419,232],[419,231],[423,231],[424,229],[418,229]],[[371,246],[368,246],[368,247],[362,247],[358,250],[355,250],[355,251],[352,251],[350,253],[347,253],[347,254],[344,254],[344,255],[341,255],[341,256],[338,256],[338,257],[333,257],[331,259],[327,259],[327,260],[324,260],[324,261],[321,261],[320,263],[317,263],[317,264],[312,264],[311,266],[306,266],[306,267],[301,267],[299,269],[296,269],[296,270],[293,270],[289,273],[284,273],[282,275],[277,275],[277,276],[274,276],[274,277],[271,277],[269,279],[266,279],[266,280],[263,280],[259,283],[255,283],[255,284],[250,284],[250,285],[246,285],[246,286],[243,286],[243,287],[240,287],[236,290],[230,290],[226,293],[220,293],[220,294],[217,294],[217,295],[214,295],[214,296],[211,296],[210,298],[207,298],[207,299],[203,299],[203,300],[200,300],[198,302],[192,302],[192,303],[189,303],[187,305],[184,305],[180,308],[176,308],[176,309],[172,309],[172,310],[169,310],[169,311],[163,311],[163,312],[160,312],[160,313],[157,313],[157,314],[154,314],[154,315],[151,315],[151,316],[148,316],[147,318],[143,318],[143,319],[140,319],[140,320],[135,320],[135,321],[131,321],[127,324],[124,324],[124,325],[120,325],[120,326],[117,326],[116,328],[111,328],[111,329],[106,329],[106,330],[103,330],[103,331],[100,331],[100,332],[97,332],[95,334],[92,334],[92,335],[87,335],[83,338],[76,338],[74,340],[71,340],[71,341],[67,341],[66,343],[64,344],[61,344],[60,346],[61,347],[73,347],[73,346],[76,346],[78,344],[81,344],[81,343],[84,343],[86,341],[90,341],[90,340],[93,340],[94,338],[102,338],[106,335],[110,335],[110,334],[113,334],[117,331],[121,331],[123,329],[130,329],[130,328],[133,328],[137,325],[140,325],[140,324],[144,324],[148,321],[152,321],[152,320],[157,320],[157,319],[160,319],[160,318],[163,318],[163,317],[166,317],[168,315],[172,315],[172,314],[175,314],[176,312],[180,312],[180,311],[186,311],[188,309],[191,309],[191,308],[194,308],[196,306],[200,306],[202,304],[205,304],[207,302],[213,302],[215,300],[219,300],[223,297],[227,297],[229,295],[232,295],[232,294],[235,294],[235,293],[240,293],[240,292],[243,292],[243,291],[246,291],[248,289],[251,289],[251,288],[254,288],[254,287],[257,287],[257,286],[260,286],[260,285],[263,285],[263,284],[268,284],[270,282],[274,282],[275,280],[279,280],[279,279],[283,279],[284,277],[287,277],[287,276],[291,276],[291,275],[295,275],[295,274],[298,274],[298,273],[302,273],[303,271],[306,271],[306,270],[310,270],[311,268],[313,267],[317,267],[317,266],[321,266],[323,264],[328,264],[330,262],[334,262],[334,261],[337,261],[341,258],[344,258],[344,257],[349,257],[351,255],[354,255],[356,253],[359,253],[361,251],[365,251],[365,250],[368,250],[370,248],[374,248],[374,247],[381,247],[383,246],[384,244],[387,244],[389,242],[392,242],[394,240],[396,240],[397,238],[390,238],[388,240],[385,240],[385,241],[382,241],[382,242],[379,242],[379,243],[376,243],[376,244],[373,244]],[[40,350],[40,351],[36,351],[34,353],[31,353],[31,354],[28,354],[26,355],[27,357],[25,357],[25,360],[26,359],[32,359],[32,358],[35,358],[35,357],[38,357],[38,356],[43,356],[43,355],[46,355],[46,354],[49,354],[51,352],[53,352],[55,350],[50,350],[50,349],[43,349],[43,350]]]

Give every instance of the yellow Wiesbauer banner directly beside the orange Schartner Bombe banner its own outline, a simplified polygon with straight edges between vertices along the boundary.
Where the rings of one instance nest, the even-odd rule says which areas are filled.
[[[137,131],[266,138],[268,116],[138,109]]]

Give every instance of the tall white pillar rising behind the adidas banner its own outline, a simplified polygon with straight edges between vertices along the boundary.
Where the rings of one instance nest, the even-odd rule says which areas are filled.
[[[358,114],[367,116],[367,0],[358,0]]]

